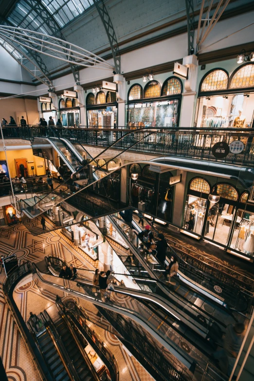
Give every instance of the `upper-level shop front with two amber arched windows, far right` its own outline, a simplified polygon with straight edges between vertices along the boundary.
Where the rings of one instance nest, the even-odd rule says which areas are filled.
[[[254,64],[242,65],[230,77],[221,68],[203,76],[199,88],[195,127],[251,128],[253,118]]]

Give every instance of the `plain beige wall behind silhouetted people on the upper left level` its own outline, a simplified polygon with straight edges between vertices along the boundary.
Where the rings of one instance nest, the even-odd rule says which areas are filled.
[[[6,119],[8,123],[10,122],[10,116],[13,116],[16,123],[19,124],[21,116],[23,116],[29,125],[36,125],[39,121],[37,100],[22,98],[1,99],[0,115],[1,119]]]

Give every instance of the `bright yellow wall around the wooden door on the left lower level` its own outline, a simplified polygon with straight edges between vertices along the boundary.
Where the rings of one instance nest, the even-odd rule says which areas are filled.
[[[16,149],[12,151],[6,151],[7,153],[7,159],[8,164],[10,168],[10,176],[16,177],[17,176],[17,170],[16,170],[16,164],[15,159],[27,159],[27,168],[28,168],[28,174],[29,176],[33,175],[33,170],[31,169],[31,166],[34,166],[34,174],[36,176],[43,176],[45,175],[45,163],[43,158],[39,158],[37,156],[33,155],[32,149]],[[0,160],[5,160],[5,154],[3,151],[0,151]],[[38,167],[42,165],[42,167]]]

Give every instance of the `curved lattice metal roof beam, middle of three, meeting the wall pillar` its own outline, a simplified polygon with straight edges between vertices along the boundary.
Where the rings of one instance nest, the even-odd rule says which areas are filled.
[[[112,21],[109,17],[108,10],[103,2],[103,0],[93,0],[97,11],[100,15],[100,18],[103,22],[104,28],[106,30],[107,36],[109,38],[109,44],[112,51],[114,64],[115,64],[115,71],[117,74],[121,74],[121,57],[119,52],[119,46],[116,38],[116,34],[114,31],[114,27],[112,24]]]

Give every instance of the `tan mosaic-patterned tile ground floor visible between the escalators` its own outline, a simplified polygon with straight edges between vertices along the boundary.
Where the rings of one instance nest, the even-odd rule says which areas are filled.
[[[48,220],[47,223],[50,223]],[[54,255],[64,259],[75,267],[84,267],[93,270],[101,264],[94,262],[88,255],[78,249],[73,243],[61,234],[60,231],[48,232],[40,236],[32,236],[23,224],[0,227],[0,255],[17,254],[23,262],[30,260],[39,262],[46,255]],[[4,270],[0,270],[0,283],[5,277]],[[38,313],[50,307],[55,300],[55,294],[47,291],[44,295],[32,281],[19,287],[14,293],[15,301],[26,321],[30,311]],[[66,296],[68,298],[68,296]],[[93,306],[93,305],[91,305]],[[96,309],[94,306],[92,307]],[[129,356],[117,338],[102,328],[95,330],[110,346],[115,354],[120,371],[120,381],[152,381],[153,378],[133,356]],[[8,310],[0,291],[0,356],[9,380],[39,381],[40,377],[34,368],[32,359],[27,352],[12,315]]]

